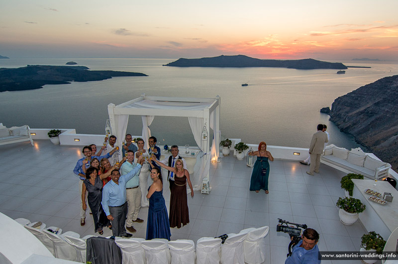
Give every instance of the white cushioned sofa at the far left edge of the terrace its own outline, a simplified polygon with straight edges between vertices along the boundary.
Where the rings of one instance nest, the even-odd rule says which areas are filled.
[[[6,128],[0,123],[0,145],[23,141],[30,141],[33,146],[33,139],[30,134],[29,126]]]

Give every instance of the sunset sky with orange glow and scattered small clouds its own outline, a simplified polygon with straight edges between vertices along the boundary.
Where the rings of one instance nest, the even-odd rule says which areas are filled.
[[[0,55],[398,61],[398,0],[0,0]]]

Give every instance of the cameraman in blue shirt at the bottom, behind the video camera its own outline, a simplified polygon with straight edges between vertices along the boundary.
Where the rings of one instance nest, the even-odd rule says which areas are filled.
[[[292,256],[289,256],[285,264],[320,264],[319,249],[316,243],[319,240],[319,234],[312,228],[307,228],[301,235],[296,246],[293,247]]]

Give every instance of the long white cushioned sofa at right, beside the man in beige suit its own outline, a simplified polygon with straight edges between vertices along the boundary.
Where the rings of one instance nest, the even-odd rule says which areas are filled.
[[[330,144],[325,147],[321,162],[338,170],[362,174],[370,179],[382,179],[389,176],[391,165],[371,157],[360,147],[351,150]]]

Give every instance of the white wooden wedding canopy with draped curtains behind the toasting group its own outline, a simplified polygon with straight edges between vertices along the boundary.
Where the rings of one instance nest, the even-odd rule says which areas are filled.
[[[217,160],[219,154],[219,96],[215,98],[181,98],[146,96],[142,94],[141,97],[118,106],[109,104],[108,114],[112,134],[117,137],[116,144],[119,146],[126,134],[129,115],[142,117],[142,137],[146,144],[148,144],[148,138],[151,136],[148,126],[152,124],[155,116],[188,117],[195,141],[203,153],[206,153],[201,157],[199,175],[191,175],[194,190],[201,189],[202,179],[208,177],[210,159]],[[213,130],[211,157],[209,128]]]

